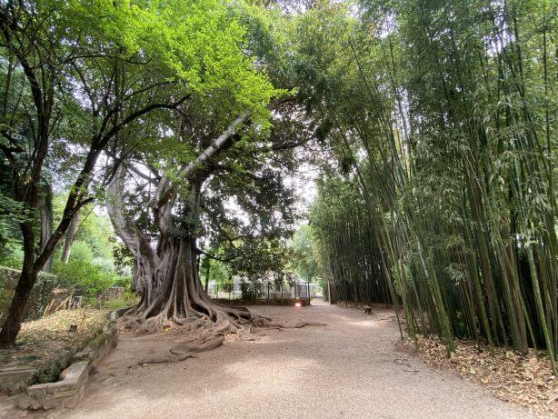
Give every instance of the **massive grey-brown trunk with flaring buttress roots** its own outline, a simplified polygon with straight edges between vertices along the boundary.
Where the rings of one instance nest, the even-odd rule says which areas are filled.
[[[241,333],[243,324],[263,325],[263,317],[243,307],[213,301],[204,291],[197,264],[196,231],[202,182],[192,182],[182,205],[178,224],[171,212],[174,200],[154,209],[160,235],[156,248],[144,238],[135,224],[123,214],[125,169],[120,166],[107,188],[107,209],[115,232],[135,255],[132,288],[141,295],[140,303],[125,312],[131,327],[155,333],[170,324],[191,324],[202,328],[204,339],[215,334]],[[180,231],[179,234],[171,232]]]

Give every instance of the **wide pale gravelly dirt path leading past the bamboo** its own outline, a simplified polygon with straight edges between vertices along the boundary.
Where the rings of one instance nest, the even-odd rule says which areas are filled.
[[[395,352],[393,312],[368,316],[334,305],[252,309],[276,320],[328,325],[269,331],[254,342],[227,340],[197,359],[121,375],[122,365],[140,348],[154,350],[173,339],[123,336],[92,376],[80,407],[56,416],[530,417],[454,374]]]

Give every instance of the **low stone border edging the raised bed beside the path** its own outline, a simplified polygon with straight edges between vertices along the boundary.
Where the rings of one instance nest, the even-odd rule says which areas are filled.
[[[60,373],[59,381],[29,386],[16,400],[17,406],[21,409],[74,408],[84,398],[91,369],[116,345],[115,312],[109,313],[107,319],[109,323],[103,333],[75,354],[73,364]]]

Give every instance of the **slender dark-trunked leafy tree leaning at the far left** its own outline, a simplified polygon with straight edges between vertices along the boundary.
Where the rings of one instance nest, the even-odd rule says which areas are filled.
[[[22,273],[0,332],[3,346],[15,342],[37,273],[75,214],[110,179],[110,167],[99,157],[110,155],[119,135],[145,115],[186,98],[178,80],[192,70],[184,67],[169,79],[158,65],[162,43],[173,41],[163,19],[147,6],[127,2],[0,3],[1,58],[7,66],[0,151],[11,171],[12,199],[25,215],[19,223]],[[95,170],[97,165],[105,170]],[[70,193],[60,223],[52,232],[41,224],[39,237],[35,228],[47,169],[67,176]]]

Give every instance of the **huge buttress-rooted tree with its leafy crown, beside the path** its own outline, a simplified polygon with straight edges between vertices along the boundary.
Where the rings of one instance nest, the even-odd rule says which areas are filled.
[[[255,56],[245,55],[254,47],[249,37],[254,25],[259,30],[267,27],[259,9],[207,2],[189,15],[178,6],[165,10],[173,25],[175,19],[178,27],[194,28],[187,36],[188,47],[203,54],[192,55],[191,66],[203,71],[203,82],[174,115],[145,127],[148,141],[141,149],[125,151],[128,156],[122,158],[108,189],[109,214],[117,234],[135,255],[133,288],[142,295],[127,315],[148,330],[168,322],[183,324],[194,316],[215,322],[216,333],[234,332],[255,316],[215,304],[204,294],[197,241],[208,237],[215,242],[212,248],[243,252],[242,262],[231,258],[233,272],[261,275],[264,266],[273,264],[270,244],[280,243],[293,219],[289,207],[294,200],[284,173],[294,164],[293,148],[308,137],[294,137],[293,127],[283,125],[298,109],[265,74],[270,57],[258,56],[256,65]],[[252,25],[249,30],[241,18]],[[190,25],[189,19],[199,23]],[[263,47],[259,53],[268,50]],[[270,107],[275,114],[271,119]],[[142,170],[147,175],[140,181],[137,175]],[[126,193],[126,180],[132,178],[139,182],[137,191],[144,193],[138,205],[133,203],[138,195]]]

